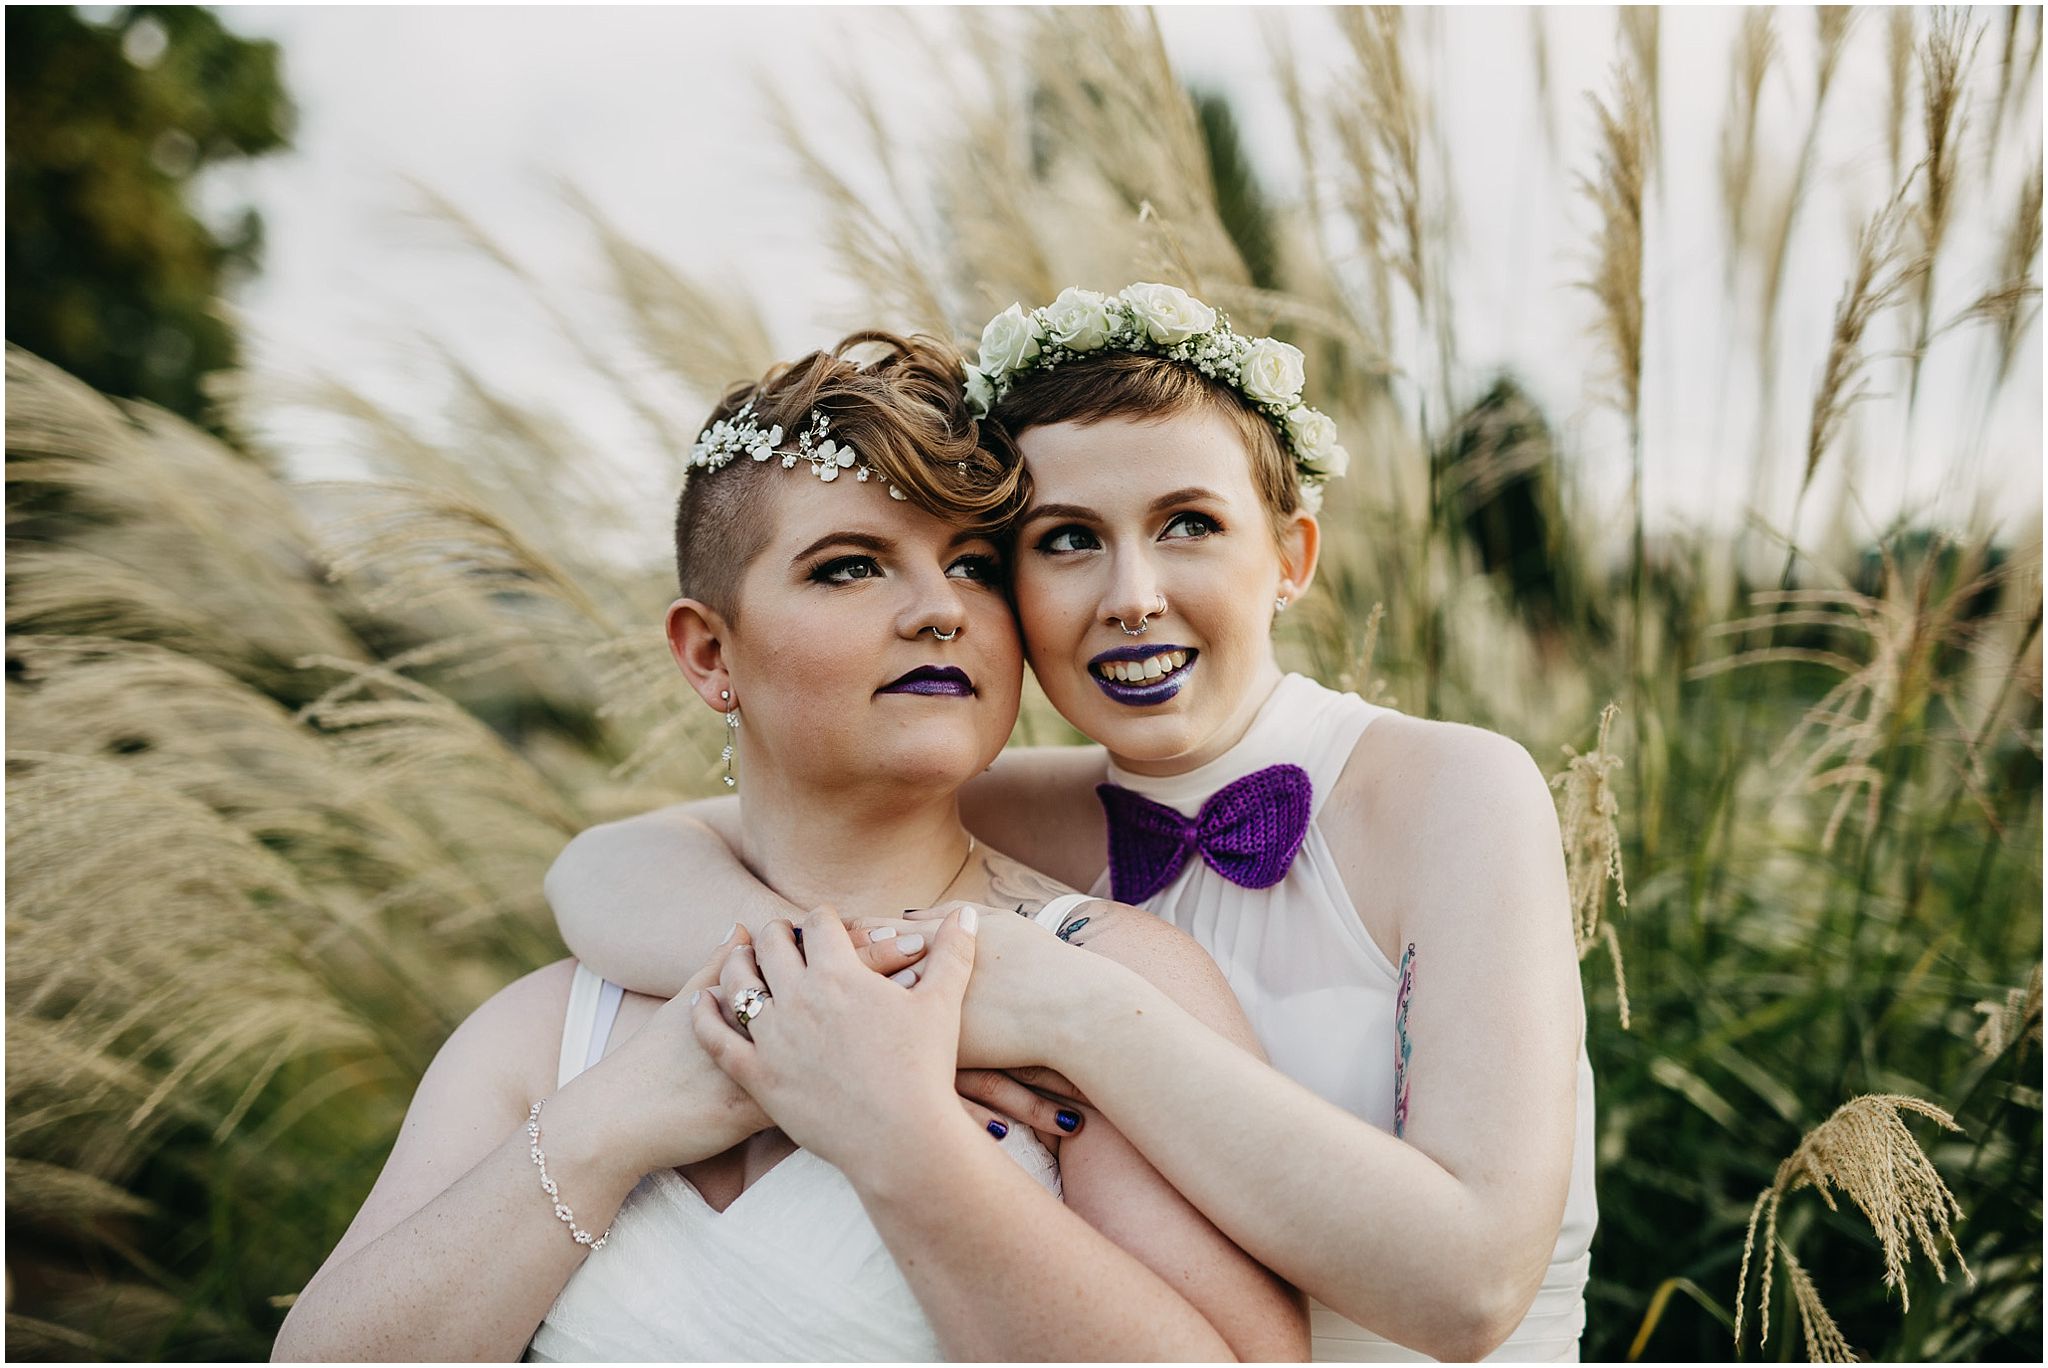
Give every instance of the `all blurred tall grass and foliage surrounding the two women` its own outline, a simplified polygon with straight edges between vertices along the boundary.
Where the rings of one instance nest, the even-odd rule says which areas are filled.
[[[668,567],[623,547],[659,545],[698,414],[774,356],[743,281],[696,279],[571,195],[596,299],[432,207],[653,461],[594,451],[451,352],[438,422],[242,371],[209,301],[254,260],[256,219],[221,240],[188,188],[285,145],[274,51],[205,10],[6,23],[6,1348],[262,1358],[438,1042],[559,954],[553,854],[711,790],[717,729],[657,631]],[[1767,197],[1757,92],[1794,25],[1819,53],[1806,152]],[[1645,281],[1671,231],[1659,14],[1622,16],[1585,111],[1597,152],[1550,186],[1589,223],[1583,307],[1552,326],[1604,348],[1587,401],[1628,434],[1620,512],[1516,375],[1460,362],[1456,145],[1419,80],[1438,29],[1343,10],[1335,33],[1325,98],[1272,31],[1298,201],[1133,10],[907,27],[905,61],[967,53],[971,80],[928,61],[967,82],[958,117],[889,129],[889,74],[856,80],[858,164],[788,106],[770,117],[858,322],[971,344],[1012,299],[1161,279],[1309,352],[1311,399],[1358,461],[1284,659],[1505,731],[1561,778],[1599,1079],[1587,1358],[1729,1358],[1743,1305],[1745,1356],[2038,1360],[2040,508],[1872,522],[1853,483],[1817,475],[1858,422],[1929,401],[1937,348],[1978,369],[1972,399],[1944,391],[1954,432],[1985,442],[1999,405],[2040,410],[2040,10],[1743,20],[1716,170],[1729,365],[1810,424],[1780,448],[1724,381],[1729,430],[1757,434],[1731,459],[1837,500],[1812,545],[1761,494],[1729,530],[1645,518],[1640,473],[1669,457],[1640,436],[1642,356],[1688,328]],[[1855,45],[1888,74],[1878,115],[1827,104]],[[1823,119],[1882,121],[1866,143],[1894,193],[1862,207],[1806,356],[1774,319],[1810,268],[1788,225],[1827,174]],[[1954,254],[1964,219],[2007,244],[1987,279]],[[297,453],[248,436],[281,414],[330,422],[352,473],[299,479]],[[1952,479],[2009,457],[1958,451]],[[1073,733],[1028,688],[1018,739]],[[1878,1124],[1894,1112],[1855,1102],[1872,1094],[1958,1128],[1911,1108]],[[1921,1147],[1954,1208],[1898,1186]],[[1761,1292],[1745,1231],[1782,1270]]]

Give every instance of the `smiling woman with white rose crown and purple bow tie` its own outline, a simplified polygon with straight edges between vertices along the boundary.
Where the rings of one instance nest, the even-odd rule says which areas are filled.
[[[961,1059],[1044,1065],[1114,1118],[1313,1296],[1319,1360],[1575,1360],[1593,1077],[1554,811],[1513,741],[1276,666],[1348,463],[1303,381],[1298,350],[1167,285],[983,332],[965,387],[1032,485],[1026,657],[1098,745],[1006,752],[967,819],[1118,899],[1061,940],[1114,936],[1128,905],[1190,932],[1272,1063],[1016,917],[983,920]],[[676,934],[684,870],[750,922],[784,911],[745,840],[723,801],[596,827],[549,899],[578,952],[659,987],[709,948]]]

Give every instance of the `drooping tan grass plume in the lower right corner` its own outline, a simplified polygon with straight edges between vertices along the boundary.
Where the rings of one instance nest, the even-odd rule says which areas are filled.
[[[1763,1219],[1763,1280],[1759,1292],[1761,1341],[1772,1337],[1772,1264],[1778,1249],[1778,1208],[1786,1196],[1810,1186],[1827,1202],[1829,1210],[1839,1210],[1831,1190],[1841,1190],[1870,1221],[1884,1249],[1884,1286],[1898,1288],[1901,1309],[1913,1309],[1913,1294],[1907,1288],[1907,1262],[1913,1257],[1913,1243],[1933,1264],[1933,1272],[1948,1282],[1948,1268],[1942,1262],[1937,1239],[1948,1241],[1956,1266],[1974,1284],[1976,1274],[1962,1259],[1962,1249],[1950,1233],[1952,1221],[1962,1221],[1962,1208],[1950,1194],[1942,1173],[1935,1171],[1927,1155],[1921,1153],[1913,1132],[1901,1120],[1901,1112],[1917,1112],[1933,1118],[1944,1130],[1960,1132],[1962,1126],[1931,1102],[1901,1094],[1866,1094],[1835,1108],[1835,1114],[1806,1132],[1784,1163],[1772,1186],[1757,1194],[1749,1210],[1749,1231],[1743,1235],[1743,1268],[1735,1284],[1735,1345],[1743,1343],[1743,1309],[1749,1292],[1749,1255],[1757,1237],[1757,1219]]]

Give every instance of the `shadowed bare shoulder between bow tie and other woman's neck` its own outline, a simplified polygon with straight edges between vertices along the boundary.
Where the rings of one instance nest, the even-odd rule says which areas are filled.
[[[1100,745],[1016,745],[961,790],[961,817],[993,846],[1077,889],[1108,864]]]

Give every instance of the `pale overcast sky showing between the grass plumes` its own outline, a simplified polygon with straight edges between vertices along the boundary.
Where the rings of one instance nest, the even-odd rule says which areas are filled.
[[[569,176],[629,236],[690,274],[719,274],[764,301],[774,340],[807,350],[850,322],[856,295],[840,281],[809,199],[762,117],[754,72],[774,80],[807,121],[844,121],[831,94],[834,63],[887,76],[901,111],[930,111],[932,82],[895,37],[899,20],[852,8],[233,8],[225,20],[276,39],[299,104],[297,145],[207,184],[207,201],[256,203],[268,227],[262,276],[240,291],[250,360],[279,373],[324,371],[373,393],[418,397],[418,338],[434,336],[489,379],[578,420],[610,440],[604,420],[580,405],[578,381],[551,350],[545,324],[502,279],[451,248],[414,211],[414,178],[455,201],[528,268],[573,291],[598,276],[588,233],[569,215],[555,178]],[[1317,12],[1280,16],[1296,35],[1311,80],[1329,70],[1333,29]],[[1440,12],[1442,59],[1425,74],[1444,98],[1450,174],[1458,197],[1460,358],[1479,377],[1522,375],[1561,424],[1577,469],[1614,500],[1626,446],[1595,403],[1589,375],[1591,301],[1573,281],[1585,270],[1589,209],[1559,190],[1591,166],[1583,92],[1610,88],[1612,10],[1550,10],[1550,119],[1554,160],[1532,82],[1526,10]],[[1647,270],[1647,494],[1653,510],[1696,520],[1735,516],[1747,420],[1724,430],[1724,412],[1747,412],[1747,379],[1720,391],[1718,328],[1722,252],[1716,143],[1726,106],[1729,45],[1737,10],[1665,10],[1665,180],[1653,203]],[[1161,27],[1188,80],[1223,86],[1237,100],[1262,180],[1282,197],[1300,190],[1292,135],[1268,74],[1262,16],[1245,8],[1167,8]],[[1978,70],[1993,76],[2003,16],[1993,20]],[[1765,88],[1767,158],[1780,174],[1796,158],[1812,86],[1808,10],[1780,10],[1784,61]],[[1829,315],[1849,266],[1853,223],[1882,197],[1884,25],[1860,18],[1821,145],[1821,190],[1802,213],[1800,274],[1786,299],[1786,369],[1780,436],[1798,448],[1804,405],[1825,356]],[[1327,86],[1327,82],[1321,82]],[[1985,86],[1989,88],[1989,86]],[[2040,76],[2019,129],[2040,156]],[[1321,90],[1341,98],[1341,90]],[[1989,127],[1989,111],[1978,111]],[[2017,174],[2011,156],[2001,176]],[[1995,190],[1997,217],[2011,193]],[[1997,221],[1956,229],[1944,297],[1960,307],[1980,289]],[[1683,326],[1673,319],[1686,319]],[[1935,352],[1921,418],[1872,422],[1855,442],[1858,489],[1882,518],[1915,500],[1956,518],[1958,469],[1997,475],[2007,508],[2040,506],[2040,326],[1987,430],[1978,340]],[[1892,387],[1898,371],[1878,375]],[[698,401],[684,403],[690,412]],[[1960,420],[1960,416],[1968,416]],[[1974,459],[1962,453],[1978,453]],[[1784,494],[1784,491],[1780,491]],[[1780,498],[1782,516],[1790,500]],[[1827,500],[1829,504],[1833,500]],[[2017,530],[2017,528],[2015,528]]]

